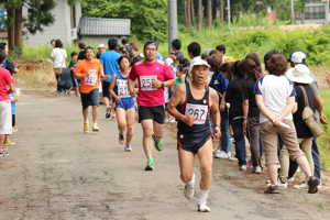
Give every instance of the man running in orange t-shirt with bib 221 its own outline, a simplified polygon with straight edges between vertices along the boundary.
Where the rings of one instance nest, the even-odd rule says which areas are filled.
[[[94,50],[88,46],[85,48],[85,59],[82,59],[74,69],[75,78],[80,79],[80,97],[82,102],[84,132],[89,132],[88,107],[92,107],[92,131],[99,131],[99,75],[101,78],[109,79],[110,76],[103,76],[103,69],[100,61],[94,58]]]

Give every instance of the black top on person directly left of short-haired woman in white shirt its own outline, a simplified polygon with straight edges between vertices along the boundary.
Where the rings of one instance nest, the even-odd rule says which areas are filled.
[[[260,117],[260,110],[256,106],[255,95],[253,94],[255,80],[253,76],[249,76],[242,86],[242,98],[249,99],[248,117]]]

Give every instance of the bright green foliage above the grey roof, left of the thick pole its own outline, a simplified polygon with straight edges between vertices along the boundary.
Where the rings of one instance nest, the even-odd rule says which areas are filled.
[[[131,19],[138,38],[163,42],[167,37],[166,0],[81,0],[84,16]]]

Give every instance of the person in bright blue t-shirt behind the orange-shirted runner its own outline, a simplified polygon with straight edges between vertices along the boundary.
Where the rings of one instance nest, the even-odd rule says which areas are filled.
[[[102,68],[105,69],[105,75],[109,76],[108,79],[103,80],[102,85],[102,91],[103,91],[103,101],[106,105],[106,118],[109,119],[111,114],[111,107],[110,107],[110,101],[112,101],[112,108],[114,109],[116,103],[112,97],[110,97],[109,94],[109,86],[111,81],[111,77],[113,74],[118,72],[118,63],[117,59],[119,59],[120,54],[114,52],[114,48],[117,46],[117,38],[110,38],[108,41],[108,46],[109,51],[101,53],[100,55],[100,62],[102,64]],[[116,120],[116,113],[112,114],[111,117],[112,120]]]

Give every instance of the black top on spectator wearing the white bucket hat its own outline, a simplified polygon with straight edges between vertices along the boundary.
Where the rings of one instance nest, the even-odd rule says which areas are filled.
[[[314,95],[312,89],[307,86],[305,86],[305,90],[306,90],[306,94],[308,97],[309,107],[311,108],[312,111],[315,111],[315,109],[316,109],[315,95]],[[312,134],[311,134],[309,128],[306,125],[306,123],[302,120],[302,111],[305,109],[305,98],[304,98],[302,90],[298,86],[295,86],[295,90],[297,92],[296,102],[298,102],[298,110],[296,111],[296,113],[294,113],[294,123],[295,123],[296,131],[297,131],[297,138],[298,139],[311,138]]]

